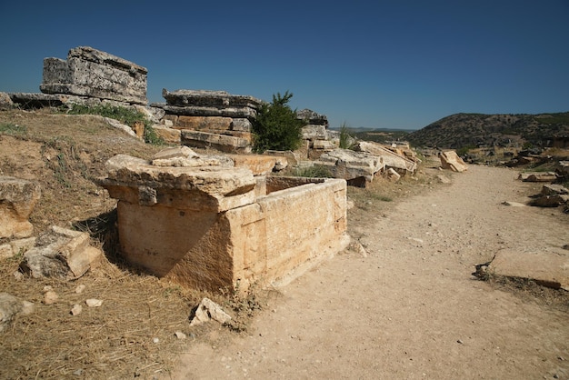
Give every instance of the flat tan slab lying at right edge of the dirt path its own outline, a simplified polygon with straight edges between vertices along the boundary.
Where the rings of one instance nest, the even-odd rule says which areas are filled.
[[[495,275],[529,278],[538,284],[569,290],[569,251],[503,249],[496,253],[488,271]]]

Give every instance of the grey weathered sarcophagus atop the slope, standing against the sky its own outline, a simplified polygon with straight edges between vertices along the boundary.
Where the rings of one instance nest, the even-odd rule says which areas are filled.
[[[45,58],[40,90],[146,105],[147,73],[145,67],[118,56],[79,46],[69,51],[66,61]]]

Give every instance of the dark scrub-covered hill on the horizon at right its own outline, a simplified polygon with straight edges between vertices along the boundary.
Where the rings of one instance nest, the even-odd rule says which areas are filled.
[[[454,114],[407,135],[414,146],[548,145],[569,136],[569,112],[538,115]]]

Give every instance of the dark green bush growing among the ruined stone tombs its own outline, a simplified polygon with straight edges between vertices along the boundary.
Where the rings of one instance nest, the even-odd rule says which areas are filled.
[[[293,97],[286,91],[284,95],[273,95],[273,102],[261,105],[253,122],[254,150],[296,150],[302,144],[304,120],[296,117],[296,112],[288,105]]]

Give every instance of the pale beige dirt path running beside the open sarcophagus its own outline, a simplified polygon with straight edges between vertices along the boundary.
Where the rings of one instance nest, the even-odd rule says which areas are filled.
[[[366,257],[280,289],[246,335],[212,331],[175,378],[569,378],[569,315],[471,275],[500,248],[569,243],[566,215],[501,205],[526,200],[516,175],[471,166],[354,222]]]

